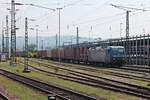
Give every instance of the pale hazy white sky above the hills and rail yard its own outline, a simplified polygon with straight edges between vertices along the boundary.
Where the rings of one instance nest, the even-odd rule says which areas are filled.
[[[5,17],[10,12],[11,0],[0,0],[0,25],[5,25]],[[15,0],[24,4],[35,4],[48,8],[60,8],[61,10],[61,36],[76,35],[76,27],[79,27],[80,37],[91,38],[120,38],[125,36],[126,11],[115,8],[110,4],[140,8],[146,11],[131,10],[130,12],[130,36],[150,33],[150,2],[149,0]],[[58,10],[33,6],[16,6],[17,36],[24,36],[25,17],[35,19],[29,21],[29,28],[39,29],[40,36],[54,36],[58,34]],[[121,24],[122,23],[122,24]],[[10,23],[9,23],[10,26]],[[122,31],[120,31],[120,29]],[[2,30],[2,27],[0,27]],[[29,30],[29,36],[35,36],[35,30]]]

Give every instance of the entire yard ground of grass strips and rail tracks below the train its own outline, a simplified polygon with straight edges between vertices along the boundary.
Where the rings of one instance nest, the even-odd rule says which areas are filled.
[[[148,85],[150,81],[147,77],[149,73],[143,72],[143,69],[147,70],[148,67],[97,68],[32,58],[29,60],[29,69],[32,72],[23,73],[24,60],[18,59],[18,67],[14,68],[10,67],[8,62],[0,63],[0,80],[4,81],[3,86],[7,91],[20,99],[44,100],[48,95],[55,95],[63,100],[146,100],[150,98]],[[6,86],[5,80],[12,83],[11,87]],[[17,85],[21,85],[20,88],[23,89],[16,90]],[[27,90],[32,91],[33,94],[28,94],[24,88],[28,88]],[[15,92],[12,92],[13,89]],[[19,95],[19,92],[25,94]]]

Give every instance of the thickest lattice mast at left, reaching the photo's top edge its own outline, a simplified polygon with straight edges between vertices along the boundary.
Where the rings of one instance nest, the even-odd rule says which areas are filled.
[[[15,26],[15,1],[11,1],[11,62],[16,66],[16,26]]]

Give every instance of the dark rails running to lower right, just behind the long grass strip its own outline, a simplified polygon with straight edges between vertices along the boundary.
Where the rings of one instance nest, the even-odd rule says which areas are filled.
[[[40,64],[47,68],[56,67],[56,66],[50,66],[47,64],[43,64],[43,63],[40,63]],[[32,68],[33,68],[33,66],[32,66]],[[103,77],[99,77],[99,76],[93,76],[93,75],[89,75],[89,74],[85,74],[85,73],[81,73],[81,72],[77,72],[77,71],[72,71],[72,70],[68,70],[68,69],[63,69],[63,68],[61,68],[61,69],[67,70],[71,75],[76,76],[76,77],[71,77],[71,76],[68,77],[68,76],[63,75],[63,78],[64,77],[67,79],[70,78],[71,80],[82,83],[82,84],[92,85],[92,86],[96,86],[96,87],[100,87],[100,88],[104,88],[104,89],[108,89],[108,90],[112,90],[112,91],[123,92],[126,94],[150,99],[150,89],[149,88],[137,86],[137,85],[133,85],[133,84],[128,84],[128,83],[124,83],[124,82],[120,82],[120,81],[115,81],[115,80],[111,80],[111,79],[107,79],[107,78],[103,78]],[[41,69],[38,69],[38,70],[43,71]],[[47,72],[47,71],[44,71],[44,72],[51,73],[51,72]],[[57,76],[62,78],[61,75],[57,74]]]

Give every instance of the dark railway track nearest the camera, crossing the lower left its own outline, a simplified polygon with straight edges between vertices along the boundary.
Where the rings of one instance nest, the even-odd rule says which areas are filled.
[[[88,96],[83,93],[75,92],[59,86],[50,85],[39,80],[17,75],[2,69],[0,69],[0,74],[47,94],[54,94],[56,95],[57,100],[96,100],[95,97]]]

